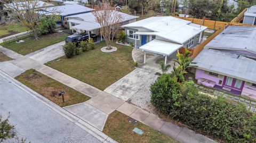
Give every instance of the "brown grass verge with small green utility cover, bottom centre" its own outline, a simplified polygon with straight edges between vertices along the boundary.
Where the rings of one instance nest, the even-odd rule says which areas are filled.
[[[129,116],[115,111],[108,116],[103,132],[117,142],[179,142],[141,122],[134,125],[128,121],[129,119]],[[135,127],[144,133],[140,135],[133,132]]]

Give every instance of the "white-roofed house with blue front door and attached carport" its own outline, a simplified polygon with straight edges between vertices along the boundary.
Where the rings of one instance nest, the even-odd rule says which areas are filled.
[[[181,47],[193,48],[201,43],[205,26],[172,16],[153,16],[123,26],[126,42],[135,44],[145,52],[165,56],[176,56]]]

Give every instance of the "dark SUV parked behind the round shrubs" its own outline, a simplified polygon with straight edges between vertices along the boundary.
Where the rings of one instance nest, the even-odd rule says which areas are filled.
[[[90,37],[93,39],[93,41],[97,41],[97,35],[90,33]],[[66,43],[68,42],[74,42],[76,43],[76,46],[79,46],[79,43],[81,41],[85,41],[89,39],[89,34],[88,33],[79,33],[78,35],[70,35],[66,38]]]

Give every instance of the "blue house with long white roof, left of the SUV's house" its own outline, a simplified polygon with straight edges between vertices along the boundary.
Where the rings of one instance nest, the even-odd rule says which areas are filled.
[[[70,5],[61,5],[61,6],[53,6],[47,7],[45,9],[40,9],[38,11],[39,14],[45,14],[47,16],[57,15],[60,16],[60,21],[57,24],[63,24],[65,26],[69,26],[67,22],[67,16],[77,15],[92,12],[94,9],[90,9],[89,7],[85,7],[79,4],[70,4]]]

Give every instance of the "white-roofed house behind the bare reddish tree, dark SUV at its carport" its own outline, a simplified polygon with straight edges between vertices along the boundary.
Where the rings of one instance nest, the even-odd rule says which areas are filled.
[[[139,16],[133,16],[126,13],[118,12],[122,15],[122,23],[124,24],[135,22]],[[92,12],[84,13],[84,14],[78,14],[78,15],[72,15],[67,16],[68,22],[69,22],[69,29],[72,29],[73,32],[76,30],[77,33],[83,33],[83,32],[91,32],[96,35],[101,35],[100,33],[100,24],[96,21],[95,16]]]

